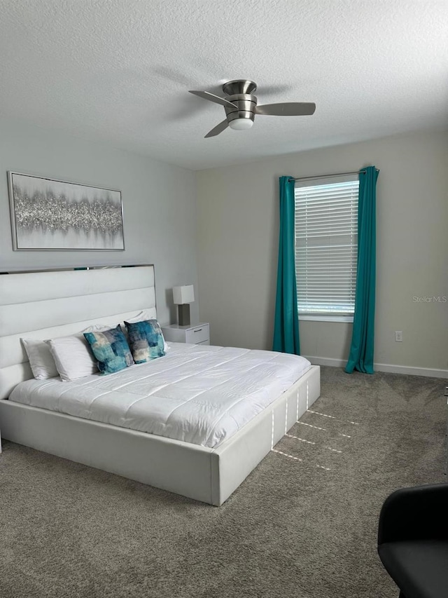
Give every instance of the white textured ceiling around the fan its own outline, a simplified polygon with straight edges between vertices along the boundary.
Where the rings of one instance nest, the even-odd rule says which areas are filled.
[[[447,0],[0,0],[0,116],[186,168],[448,123]],[[257,116],[189,89],[252,79]]]

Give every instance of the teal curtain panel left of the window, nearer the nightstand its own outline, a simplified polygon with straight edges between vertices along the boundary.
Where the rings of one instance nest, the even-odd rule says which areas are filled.
[[[300,355],[295,282],[294,181],[280,177],[279,265],[272,351]]]

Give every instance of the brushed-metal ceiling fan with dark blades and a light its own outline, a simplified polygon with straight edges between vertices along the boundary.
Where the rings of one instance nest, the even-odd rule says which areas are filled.
[[[216,104],[221,104],[225,109],[225,120],[216,125],[205,137],[214,137],[223,130],[231,129],[244,130],[250,129],[253,125],[255,114],[265,116],[307,116],[314,114],[316,104],[312,102],[283,102],[281,104],[261,104],[257,105],[257,98],[253,93],[257,89],[256,83],[247,79],[235,79],[228,81],[223,85],[225,97],[220,97],[208,91],[194,91],[194,93],[204,100],[210,100]]]

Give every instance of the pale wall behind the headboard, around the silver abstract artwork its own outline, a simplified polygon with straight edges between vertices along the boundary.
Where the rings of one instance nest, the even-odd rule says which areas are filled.
[[[6,172],[122,192],[125,251],[13,251]],[[195,173],[26,123],[0,120],[0,271],[55,266],[154,264],[160,322],[176,322],[172,287],[193,283]],[[198,302],[192,304],[197,318]]]

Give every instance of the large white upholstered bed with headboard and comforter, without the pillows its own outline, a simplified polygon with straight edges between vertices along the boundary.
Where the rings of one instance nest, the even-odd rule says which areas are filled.
[[[142,311],[157,319],[153,266],[1,275],[1,436],[221,505],[319,396],[319,368],[268,351],[170,344],[116,374],[34,380],[21,338],[78,334]],[[248,372],[246,390],[235,365]],[[193,420],[192,405],[211,412],[213,426]]]

